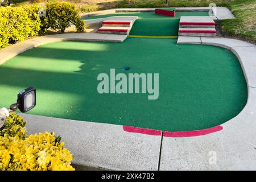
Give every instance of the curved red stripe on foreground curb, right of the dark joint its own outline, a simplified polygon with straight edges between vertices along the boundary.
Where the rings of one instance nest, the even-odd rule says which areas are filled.
[[[177,132],[169,132],[169,131],[164,131],[163,136],[164,137],[196,137],[196,136],[201,136],[201,135],[207,135],[210,133],[214,133],[217,131],[222,130],[223,127],[218,125],[215,127],[211,127],[209,129],[204,129],[204,130],[195,130],[195,131],[177,131]]]

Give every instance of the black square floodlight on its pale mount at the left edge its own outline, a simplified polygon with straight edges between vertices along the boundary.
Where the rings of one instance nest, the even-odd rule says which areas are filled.
[[[17,102],[10,106],[10,109],[5,107],[0,108],[0,129],[5,125],[5,119],[9,117],[9,112],[19,109],[22,113],[33,109],[36,105],[36,89],[29,87],[19,92]]]

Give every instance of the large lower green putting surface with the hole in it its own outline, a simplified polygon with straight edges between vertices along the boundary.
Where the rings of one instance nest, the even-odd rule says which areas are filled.
[[[99,94],[97,76],[159,73],[159,98]],[[220,125],[246,104],[247,86],[232,52],[176,44],[176,39],[127,38],[123,43],[57,42],[30,49],[0,65],[0,105],[8,107],[28,86],[37,89],[30,114],[191,131]],[[72,122],[72,121],[71,121]]]

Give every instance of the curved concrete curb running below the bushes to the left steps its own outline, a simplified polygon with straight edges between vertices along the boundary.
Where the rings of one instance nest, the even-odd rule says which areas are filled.
[[[0,50],[0,65],[12,57],[27,51],[28,49],[42,46],[43,44],[76,40],[76,41],[95,41],[95,42],[123,42],[127,35],[112,35],[112,34],[97,34],[97,33],[68,33],[68,34],[55,34],[47,36],[39,36],[37,38],[28,39],[3,48]]]

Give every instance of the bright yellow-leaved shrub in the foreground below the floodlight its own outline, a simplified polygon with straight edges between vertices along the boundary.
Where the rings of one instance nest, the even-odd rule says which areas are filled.
[[[26,121],[11,113],[0,133],[0,170],[75,170],[72,154],[54,133],[26,135]]]

